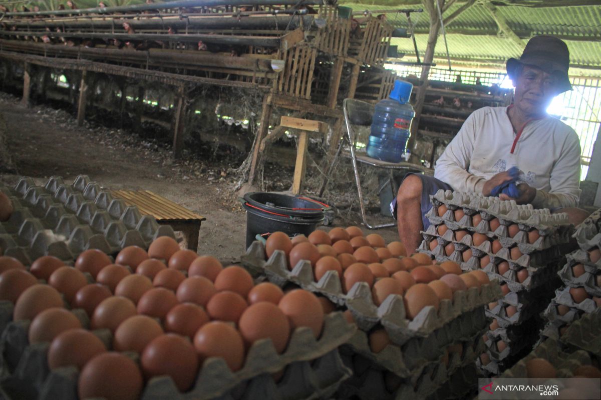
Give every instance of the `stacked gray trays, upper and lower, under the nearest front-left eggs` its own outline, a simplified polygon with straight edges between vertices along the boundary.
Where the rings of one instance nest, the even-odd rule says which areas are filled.
[[[78,370],[74,366],[47,366],[49,343],[29,345],[31,321],[10,321],[13,304],[0,302],[0,321],[5,323],[0,336],[0,393],[7,400],[77,400]],[[82,309],[72,312],[89,327]],[[239,371],[231,371],[225,360],[205,360],[194,387],[186,393],[178,391],[171,377],[154,377],[148,381],[142,400],[159,399],[317,399],[330,398],[352,371],[344,366],[338,347],[355,333],[356,326],[347,323],[341,312],[325,315],[322,335],[315,339],[308,327],[299,327],[291,335],[284,353],[276,353],[270,339],[255,342],[248,349],[246,362]],[[94,330],[108,350],[112,334],[108,329]],[[136,362],[139,354],[124,353]],[[284,370],[278,381],[272,376]]]

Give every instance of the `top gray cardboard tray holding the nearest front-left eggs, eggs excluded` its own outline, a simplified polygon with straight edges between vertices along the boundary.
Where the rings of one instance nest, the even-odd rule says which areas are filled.
[[[6,315],[11,315],[12,311],[12,303],[0,302],[0,312],[2,312],[0,320],[7,320]],[[83,310],[75,309],[73,312],[78,317],[84,314],[83,317],[85,318],[81,318],[83,320],[82,326],[89,326],[89,320]],[[10,371],[16,366],[15,373],[21,380],[41,382],[38,390],[56,393],[57,391],[61,392],[61,390],[67,390],[68,392],[69,387],[76,387],[76,377],[75,380],[69,380],[64,376],[53,377],[53,373],[49,374],[46,366],[47,346],[34,347],[28,345],[29,323],[30,321],[12,321],[3,330],[0,339],[0,348],[2,349],[0,354],[4,357],[0,357],[2,360],[0,377],[10,375]],[[232,372],[223,359],[210,358],[204,363],[197,382],[190,392],[180,393],[171,378],[157,377],[148,382],[142,400],[158,400],[165,398],[165,396],[169,399],[182,400],[216,398],[224,395],[240,383],[252,380],[259,375],[278,372],[294,362],[309,362],[326,356],[326,354],[347,342],[355,331],[355,324],[347,323],[341,312],[332,312],[324,317],[322,335],[319,339],[315,339],[310,328],[299,327],[292,333],[288,346],[282,354],[276,353],[270,339],[257,341],[249,348],[245,365],[239,371]],[[99,332],[99,337],[103,339],[106,347],[111,349],[111,332],[106,329],[94,331],[94,333],[97,332]],[[19,375],[20,370],[26,371],[27,374]],[[348,374],[345,373],[345,375]],[[327,374],[326,376],[331,377]],[[46,383],[47,380],[50,380],[51,383]],[[64,385],[65,389],[61,389],[63,386],[53,387],[54,384]],[[323,389],[326,388],[323,387]],[[52,397],[47,398],[47,400],[51,399]]]

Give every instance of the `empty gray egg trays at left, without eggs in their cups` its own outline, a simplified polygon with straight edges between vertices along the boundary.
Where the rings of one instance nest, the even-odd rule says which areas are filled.
[[[43,186],[20,178],[14,188],[0,184],[0,191],[13,203],[12,215],[0,224],[0,247],[25,265],[42,255],[73,261],[91,248],[116,254],[130,245],[147,249],[159,236],[175,237],[171,227],[114,199],[85,175],[72,185],[56,176]]]

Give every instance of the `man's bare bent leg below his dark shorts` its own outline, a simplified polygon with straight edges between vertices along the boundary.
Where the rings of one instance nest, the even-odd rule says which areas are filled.
[[[398,237],[407,249],[407,255],[413,254],[421,243],[424,224],[421,221],[421,179],[409,175],[398,188],[397,225]]]

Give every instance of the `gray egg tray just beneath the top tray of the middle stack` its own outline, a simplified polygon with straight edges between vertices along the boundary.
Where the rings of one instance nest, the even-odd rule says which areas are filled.
[[[473,341],[476,336],[483,335],[486,326],[484,309],[476,308],[426,338],[413,338],[402,346],[389,344],[379,353],[371,351],[369,335],[362,330],[358,330],[345,346],[401,378],[417,377],[427,365],[441,362],[448,345],[457,341]]]

